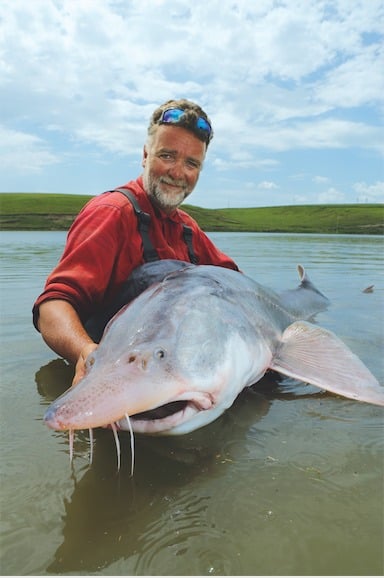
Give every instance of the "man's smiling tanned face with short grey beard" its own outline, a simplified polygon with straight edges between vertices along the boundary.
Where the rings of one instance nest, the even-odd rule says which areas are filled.
[[[144,146],[144,188],[166,213],[174,211],[193,191],[203,166],[206,145],[179,126],[160,125]]]

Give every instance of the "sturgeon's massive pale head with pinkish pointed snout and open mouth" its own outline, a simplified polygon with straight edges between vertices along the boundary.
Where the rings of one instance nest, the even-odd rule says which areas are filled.
[[[147,289],[107,326],[85,377],[47,410],[53,429],[117,423],[146,434],[184,434],[216,419],[270,352],[217,287]],[[250,349],[252,351],[250,351]]]

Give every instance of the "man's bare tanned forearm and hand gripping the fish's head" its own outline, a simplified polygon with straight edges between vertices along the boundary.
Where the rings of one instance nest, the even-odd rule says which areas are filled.
[[[78,314],[67,301],[52,299],[39,307],[38,327],[45,343],[75,364],[75,385],[85,373],[85,361],[97,347],[85,331]]]

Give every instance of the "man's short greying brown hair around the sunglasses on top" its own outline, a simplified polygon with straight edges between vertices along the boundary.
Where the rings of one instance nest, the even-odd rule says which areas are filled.
[[[210,124],[212,128],[211,121],[209,120],[208,115],[198,104],[195,104],[194,102],[187,100],[185,98],[181,98],[179,100],[168,100],[167,102],[156,108],[149,122],[148,136],[152,137],[155,134],[157,127],[160,125],[159,121],[161,115],[168,108],[180,108],[184,110],[185,114],[183,114],[180,120],[177,123],[175,123],[175,126],[181,126],[189,130],[195,136],[197,136],[199,140],[203,141],[208,148],[208,145],[213,138],[213,129],[211,130],[211,133],[207,135],[206,132],[198,128],[196,123],[198,118],[202,117]]]

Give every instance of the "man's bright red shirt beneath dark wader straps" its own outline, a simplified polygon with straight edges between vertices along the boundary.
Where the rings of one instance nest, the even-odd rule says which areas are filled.
[[[140,208],[151,216],[149,236],[160,259],[190,261],[183,226],[192,228],[192,242],[199,265],[220,265],[238,270],[232,259],[209,240],[196,221],[176,209],[171,215],[153,207],[142,178],[124,185],[134,192]],[[118,192],[91,199],[73,222],[64,253],[49,275],[34,308],[49,299],[68,301],[85,321],[108,305],[133,269],[142,265],[143,247],[138,219],[131,202]]]

